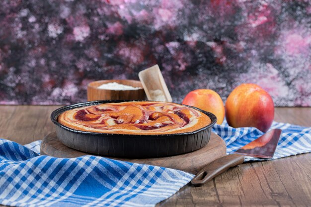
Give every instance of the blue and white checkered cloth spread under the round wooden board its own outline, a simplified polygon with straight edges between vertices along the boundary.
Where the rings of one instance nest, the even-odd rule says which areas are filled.
[[[283,130],[274,159],[311,151],[311,128],[276,123]],[[228,153],[263,133],[255,128],[214,127]],[[25,146],[0,139],[0,204],[19,207],[154,207],[194,175],[98,156],[39,156],[41,141]],[[255,159],[247,159],[255,160]]]

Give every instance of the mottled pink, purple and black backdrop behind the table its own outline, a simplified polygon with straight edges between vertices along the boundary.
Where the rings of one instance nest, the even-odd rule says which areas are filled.
[[[88,82],[155,64],[176,102],[253,82],[277,106],[311,106],[311,2],[0,2],[0,104],[85,101]]]

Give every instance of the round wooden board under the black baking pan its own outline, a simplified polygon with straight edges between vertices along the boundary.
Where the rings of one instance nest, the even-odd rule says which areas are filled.
[[[69,148],[60,142],[56,136],[56,132],[50,133],[43,138],[40,149],[41,155],[49,155],[54,157],[73,158],[83,155],[89,155],[88,153],[78,151],[76,149]],[[158,158],[119,158],[119,157],[107,157],[116,160],[135,162],[141,164],[156,165],[161,167],[169,167],[177,170],[186,171],[196,174],[205,165],[223,157],[226,155],[225,141],[218,135],[212,133],[210,141],[203,148],[189,152],[186,154],[180,154],[170,157],[158,157]]]

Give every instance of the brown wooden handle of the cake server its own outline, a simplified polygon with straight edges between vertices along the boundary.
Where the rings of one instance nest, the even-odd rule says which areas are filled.
[[[191,184],[194,186],[201,186],[217,175],[222,174],[231,167],[244,162],[244,155],[229,154],[221,157],[205,166],[198,174],[192,179]]]

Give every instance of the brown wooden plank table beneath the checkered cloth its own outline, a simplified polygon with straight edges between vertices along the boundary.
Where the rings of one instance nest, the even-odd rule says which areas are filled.
[[[26,144],[54,131],[59,106],[0,106],[0,137]],[[311,126],[311,108],[276,108],[275,121]],[[183,187],[160,207],[311,206],[311,153],[241,164],[203,187]]]

